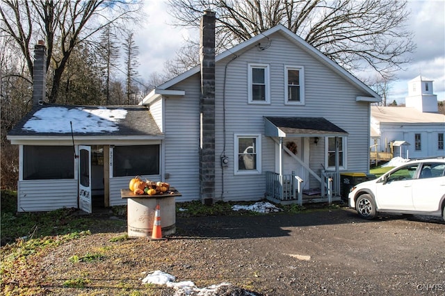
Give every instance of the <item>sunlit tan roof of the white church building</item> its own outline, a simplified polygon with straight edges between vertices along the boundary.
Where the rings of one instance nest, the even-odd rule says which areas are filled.
[[[371,117],[380,123],[445,124],[445,115],[421,112],[414,107],[371,106]]]

